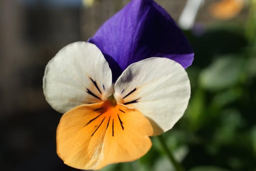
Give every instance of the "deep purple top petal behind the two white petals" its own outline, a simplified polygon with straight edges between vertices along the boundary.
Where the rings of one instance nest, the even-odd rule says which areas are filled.
[[[116,77],[130,64],[149,57],[169,58],[186,68],[194,56],[175,21],[153,0],[132,0],[89,42],[102,51]]]

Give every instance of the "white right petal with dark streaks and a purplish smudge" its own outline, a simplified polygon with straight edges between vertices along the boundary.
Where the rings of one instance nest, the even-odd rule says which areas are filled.
[[[150,120],[154,135],[174,126],[190,97],[185,69],[167,58],[149,58],[128,66],[114,86],[118,103],[139,109]]]

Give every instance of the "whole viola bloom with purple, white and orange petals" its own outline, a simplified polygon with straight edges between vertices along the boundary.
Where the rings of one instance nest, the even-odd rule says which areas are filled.
[[[60,158],[98,170],[143,156],[149,136],[184,114],[192,60],[186,37],[153,0],[132,0],[88,43],[61,49],[43,81],[47,102],[65,113],[56,134]]]

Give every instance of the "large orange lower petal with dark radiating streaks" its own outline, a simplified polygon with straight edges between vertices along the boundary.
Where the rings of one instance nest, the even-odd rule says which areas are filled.
[[[139,110],[102,102],[65,113],[57,128],[57,153],[77,169],[98,170],[133,161],[150,148],[153,129]]]

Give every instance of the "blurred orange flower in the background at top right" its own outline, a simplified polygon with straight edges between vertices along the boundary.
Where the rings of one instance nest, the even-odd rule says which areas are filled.
[[[210,6],[212,17],[227,20],[235,17],[243,8],[245,0],[221,0]]]

